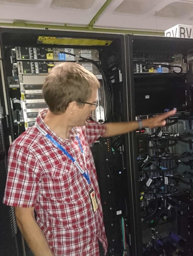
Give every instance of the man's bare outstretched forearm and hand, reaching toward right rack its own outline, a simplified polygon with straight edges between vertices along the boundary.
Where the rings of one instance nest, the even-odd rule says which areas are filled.
[[[143,127],[161,127],[166,125],[165,119],[171,115],[174,115],[176,110],[171,110],[167,113],[158,115],[156,117],[152,117],[149,119],[143,119],[142,125]],[[128,132],[135,131],[139,129],[138,121],[131,121],[131,122],[117,122],[117,123],[105,123],[106,131],[102,135],[103,137],[111,137],[119,134],[124,134]]]

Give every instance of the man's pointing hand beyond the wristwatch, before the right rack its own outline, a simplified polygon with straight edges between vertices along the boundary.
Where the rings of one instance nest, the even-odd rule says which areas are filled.
[[[167,113],[158,115],[156,117],[152,117],[149,119],[143,119],[143,127],[149,127],[149,128],[154,128],[154,127],[161,127],[166,125],[165,119],[167,117],[172,116],[176,113],[176,109],[168,111]]]

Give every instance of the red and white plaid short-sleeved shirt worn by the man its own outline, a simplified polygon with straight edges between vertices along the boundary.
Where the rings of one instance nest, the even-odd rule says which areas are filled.
[[[88,121],[83,127],[72,128],[69,139],[62,139],[43,122],[46,113],[47,110],[40,111],[37,124],[62,145],[83,170],[88,169],[98,209],[93,212],[90,186],[78,168],[36,126],[23,132],[10,146],[3,202],[16,207],[35,207],[36,221],[54,255],[98,256],[98,239],[106,253],[102,205],[90,149],[105,132],[105,127]]]

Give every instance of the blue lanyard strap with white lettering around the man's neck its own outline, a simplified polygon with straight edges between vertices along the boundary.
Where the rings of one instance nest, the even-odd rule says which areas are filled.
[[[87,173],[84,172],[84,170],[82,169],[82,167],[80,166],[79,163],[76,162],[76,160],[74,159],[74,157],[72,157],[67,151],[66,149],[64,149],[63,146],[61,146],[55,139],[53,139],[52,136],[50,136],[49,134],[47,134],[37,123],[36,123],[36,127],[38,128],[38,130],[46,136],[47,139],[49,139],[55,146],[57,146],[57,148],[59,148],[68,158],[70,158],[70,160],[76,165],[76,167],[78,168],[78,170],[80,171],[80,173],[84,176],[84,178],[87,180],[88,184],[90,185],[91,184],[91,181],[90,181],[90,177],[89,177],[89,174],[88,174],[88,170],[87,170]],[[85,160],[85,156],[84,156],[84,151],[83,151],[83,148],[81,146],[81,142],[80,142],[80,139],[78,138],[78,136],[76,136],[77,140],[78,140],[78,144],[79,144],[79,147],[81,149],[81,153],[83,155],[83,158],[84,158],[84,164],[86,164],[86,160]]]

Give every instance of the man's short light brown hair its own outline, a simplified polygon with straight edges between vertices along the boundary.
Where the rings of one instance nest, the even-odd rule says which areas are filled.
[[[52,68],[43,84],[43,96],[50,111],[63,114],[72,101],[86,102],[100,83],[95,75],[74,62],[62,62]],[[84,104],[77,103],[82,107]]]

